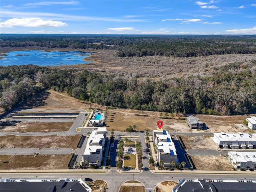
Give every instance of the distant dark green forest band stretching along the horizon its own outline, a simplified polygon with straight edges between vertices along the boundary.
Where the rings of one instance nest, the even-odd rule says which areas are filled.
[[[118,57],[196,57],[216,54],[254,54],[256,36],[78,36],[1,35],[1,47],[110,49]]]

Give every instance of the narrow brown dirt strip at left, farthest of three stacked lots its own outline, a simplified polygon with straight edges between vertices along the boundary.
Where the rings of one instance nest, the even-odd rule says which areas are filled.
[[[0,131],[15,131],[15,132],[55,132],[55,131],[68,131],[74,122],[69,123],[41,123],[41,122],[32,122],[32,123],[14,123],[10,126],[4,126]]]

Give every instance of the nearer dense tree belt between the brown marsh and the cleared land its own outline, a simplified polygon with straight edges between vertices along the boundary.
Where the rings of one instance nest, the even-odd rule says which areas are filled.
[[[138,80],[86,70],[34,65],[0,66],[0,106],[20,104],[41,88],[100,105],[199,114],[256,113],[256,60],[215,68],[207,77]]]

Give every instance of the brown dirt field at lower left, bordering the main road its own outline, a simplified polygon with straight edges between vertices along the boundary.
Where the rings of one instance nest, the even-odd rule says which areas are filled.
[[[0,169],[68,169],[72,155],[0,155]]]

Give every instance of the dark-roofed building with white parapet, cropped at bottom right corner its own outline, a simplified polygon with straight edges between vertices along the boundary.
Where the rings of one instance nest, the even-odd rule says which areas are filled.
[[[183,179],[172,192],[255,192],[255,180]]]

